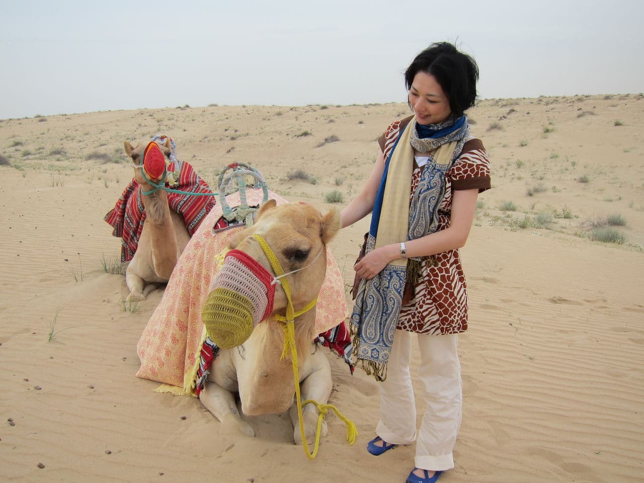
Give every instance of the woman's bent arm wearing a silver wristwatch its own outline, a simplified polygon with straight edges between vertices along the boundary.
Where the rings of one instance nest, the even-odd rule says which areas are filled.
[[[454,191],[451,201],[450,226],[422,238],[405,242],[407,257],[435,255],[459,249],[468,240],[477,209],[478,189]],[[401,240],[404,242],[404,240]],[[401,258],[400,243],[384,245],[366,254],[355,264],[354,270],[362,278],[370,279],[392,260]]]

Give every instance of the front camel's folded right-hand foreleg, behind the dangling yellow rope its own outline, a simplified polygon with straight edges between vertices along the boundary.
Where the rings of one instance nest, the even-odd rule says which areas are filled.
[[[327,357],[321,354],[321,352],[316,352],[314,357],[314,371],[299,384],[299,392],[302,403],[307,399],[313,399],[317,403],[326,404],[328,403],[328,398],[331,395],[331,389],[333,386],[331,382],[331,367],[328,364]],[[289,416],[290,420],[293,422],[293,439],[295,440],[295,444],[301,444],[302,433],[299,429],[297,401],[295,401],[290,407]],[[302,408],[304,434],[308,444],[315,442],[318,417],[319,413],[317,412],[315,404],[307,404]],[[326,436],[327,433],[327,422],[322,420],[320,436]]]

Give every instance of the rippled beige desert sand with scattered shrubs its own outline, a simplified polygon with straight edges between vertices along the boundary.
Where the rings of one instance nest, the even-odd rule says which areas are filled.
[[[376,138],[407,114],[406,104],[208,106],[2,120],[0,480],[403,482],[413,445],[366,453],[377,383],[330,352],[330,402],[359,436],[348,446],[328,415],[313,461],[287,415],[249,418],[251,438],[197,399],[155,393],[135,377],[136,345],[162,290],[128,310],[124,277],[102,265],[118,265],[103,216],[133,175],[124,140],[166,133],[211,185],[224,164],[250,162],[270,189],[326,211],[359,192]],[[642,481],[644,97],[487,99],[470,117],[493,189],[462,249],[464,417],[441,481]],[[310,181],[289,179],[297,169]],[[326,201],[333,190],[342,202]],[[367,227],[332,243],[347,284]],[[598,228],[595,238],[622,241],[594,240]]]

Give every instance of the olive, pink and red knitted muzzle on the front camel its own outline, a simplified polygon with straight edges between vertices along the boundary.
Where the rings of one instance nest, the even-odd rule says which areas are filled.
[[[272,274],[249,254],[229,251],[202,309],[208,336],[222,349],[242,345],[273,311]]]

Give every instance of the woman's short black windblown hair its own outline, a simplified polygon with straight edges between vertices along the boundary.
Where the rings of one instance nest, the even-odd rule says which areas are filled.
[[[435,42],[419,53],[404,73],[407,90],[419,72],[433,75],[450,100],[456,117],[474,106],[477,99],[478,65],[471,55],[449,42]]]

